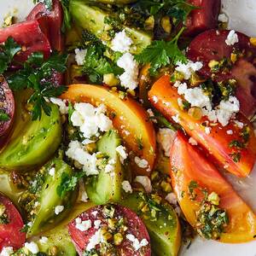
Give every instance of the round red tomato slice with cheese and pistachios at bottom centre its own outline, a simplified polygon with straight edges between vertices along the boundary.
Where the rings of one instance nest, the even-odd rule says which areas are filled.
[[[118,255],[125,255],[125,256],[150,256],[151,255],[151,248],[150,248],[150,240],[148,236],[148,230],[146,229],[143,221],[137,217],[135,212],[132,212],[130,209],[126,207],[121,207],[118,205],[108,205],[113,207],[114,213],[113,218],[115,220],[119,220],[120,218],[125,219],[125,226],[128,228],[123,235],[123,241],[117,246],[116,252]],[[104,227],[108,227],[108,218],[106,217],[106,213],[104,213],[104,207],[106,206],[98,206],[92,207],[88,211],[80,214],[78,218],[81,221],[90,220],[91,227],[86,231],[81,231],[77,227],[77,219],[73,219],[73,221],[68,224],[69,234],[72,237],[73,243],[77,248],[79,255],[82,255],[86,247],[90,243],[90,239],[92,236],[96,234],[99,229]],[[109,218],[110,219],[110,218]],[[95,221],[101,221],[100,227],[95,226]],[[107,228],[108,229],[108,228]],[[130,241],[126,235],[133,235],[137,241],[147,241],[147,245],[135,249],[133,246],[133,242]],[[99,248],[99,244],[96,245],[96,249]],[[100,254],[100,255],[107,255],[107,254]]]

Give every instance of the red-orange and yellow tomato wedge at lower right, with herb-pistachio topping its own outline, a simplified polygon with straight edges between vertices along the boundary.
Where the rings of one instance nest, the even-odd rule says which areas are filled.
[[[198,183],[207,189],[208,194],[215,192],[219,196],[219,207],[226,210],[229,223],[220,236],[223,242],[245,242],[255,240],[256,216],[247,204],[241,200],[224,177],[220,175],[195,146],[189,144],[183,134],[178,133],[171,148],[172,188],[182,211],[193,227],[197,224],[196,212],[201,199],[191,199],[189,184]]]

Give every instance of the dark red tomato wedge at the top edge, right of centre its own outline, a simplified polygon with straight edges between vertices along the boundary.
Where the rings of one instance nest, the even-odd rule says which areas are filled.
[[[218,26],[220,0],[189,0],[188,2],[198,9],[192,10],[186,20],[187,30],[184,32],[186,35],[195,36]]]

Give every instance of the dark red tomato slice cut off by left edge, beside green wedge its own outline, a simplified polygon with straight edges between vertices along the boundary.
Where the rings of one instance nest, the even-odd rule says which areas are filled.
[[[6,141],[15,117],[15,98],[5,80],[0,82],[0,110],[9,120],[0,122],[0,146]]]

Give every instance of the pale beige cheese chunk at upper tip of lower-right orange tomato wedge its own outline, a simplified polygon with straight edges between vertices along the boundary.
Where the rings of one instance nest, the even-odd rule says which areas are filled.
[[[175,137],[176,132],[172,131],[171,129],[168,128],[160,128],[157,136],[156,136],[156,141],[157,143],[160,144],[160,148],[162,148],[165,152],[165,155],[167,157],[170,156],[170,149],[172,145],[172,141]]]

